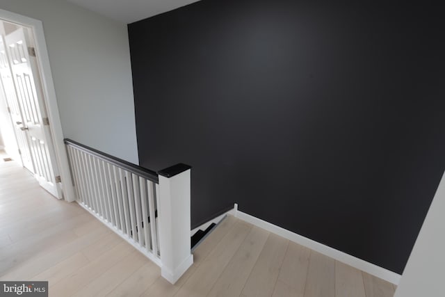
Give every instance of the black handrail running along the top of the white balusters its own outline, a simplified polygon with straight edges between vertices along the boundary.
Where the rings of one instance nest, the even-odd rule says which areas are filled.
[[[95,150],[92,147],[88,147],[87,145],[83,145],[81,143],[78,143],[77,141],[73,141],[69,138],[65,138],[63,140],[65,144],[72,145],[73,147],[76,147],[79,150],[82,150],[83,152],[87,152],[88,154],[92,154],[94,156],[97,156],[97,158],[102,159],[104,161],[107,161],[109,163],[112,163],[116,166],[119,166],[121,168],[124,168],[125,170],[128,170],[129,172],[132,172],[136,175],[139,175],[140,177],[144,177],[145,179],[149,179],[152,182],[155,182],[156,184],[159,184],[159,177],[158,174],[153,171],[149,170],[147,168],[140,167],[136,164],[127,162],[125,160],[116,158],[115,156],[111,156],[111,154],[106,154],[104,152],[101,152],[99,150]]]

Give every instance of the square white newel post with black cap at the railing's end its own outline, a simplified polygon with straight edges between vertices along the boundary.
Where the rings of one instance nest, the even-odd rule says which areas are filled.
[[[161,275],[175,284],[193,264],[191,254],[191,166],[179,163],[159,174]]]

